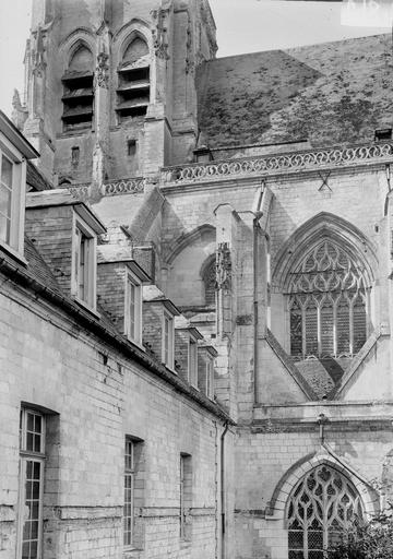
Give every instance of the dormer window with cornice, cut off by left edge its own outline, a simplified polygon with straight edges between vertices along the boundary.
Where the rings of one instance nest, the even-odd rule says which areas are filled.
[[[23,254],[26,162],[38,156],[0,111],[0,245]]]

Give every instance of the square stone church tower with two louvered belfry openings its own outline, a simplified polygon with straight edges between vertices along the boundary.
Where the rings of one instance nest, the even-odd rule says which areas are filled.
[[[207,0],[34,0],[15,121],[60,187],[154,176],[192,158],[216,49]]]

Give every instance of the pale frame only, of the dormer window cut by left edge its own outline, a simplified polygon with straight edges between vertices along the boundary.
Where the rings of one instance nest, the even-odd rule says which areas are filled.
[[[2,157],[7,157],[12,164],[11,210],[10,210],[10,236],[9,241],[0,238],[0,247],[13,255],[23,259],[24,246],[24,216],[26,194],[26,159],[19,150],[0,133],[0,179]],[[23,259],[24,260],[24,259]]]

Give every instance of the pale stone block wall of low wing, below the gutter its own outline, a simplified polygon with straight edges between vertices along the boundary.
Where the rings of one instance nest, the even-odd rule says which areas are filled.
[[[221,423],[60,309],[2,284],[0,531],[13,557],[21,403],[48,419],[45,557],[122,556],[124,436],[143,441],[143,549],[129,557],[216,554]],[[48,316],[50,314],[50,320]],[[179,540],[180,453],[192,456],[191,540]]]

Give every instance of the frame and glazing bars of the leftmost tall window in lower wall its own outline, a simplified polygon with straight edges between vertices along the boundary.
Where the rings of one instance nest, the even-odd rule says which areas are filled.
[[[40,445],[39,451],[35,451],[32,449],[27,449],[26,439],[27,432],[38,432],[38,431],[28,431],[27,430],[27,419],[28,415],[33,415],[34,417],[40,417]],[[39,559],[43,552],[43,540],[44,540],[44,525],[43,525],[43,512],[44,512],[44,474],[45,474],[45,430],[46,430],[46,420],[45,416],[37,412],[36,409],[32,409],[29,407],[21,408],[21,425],[20,425],[20,479],[19,479],[19,499],[17,499],[17,532],[16,532],[16,557],[17,559],[22,559],[23,545],[25,542],[32,542],[32,539],[24,540],[23,539],[23,530],[25,525],[24,521],[24,510],[25,510],[25,501],[26,501],[26,476],[27,476],[27,463],[39,464],[39,489],[38,489],[38,508],[37,508],[37,518],[38,522],[37,528],[37,552],[36,557]],[[32,479],[37,479],[33,478]],[[34,481],[33,481],[34,483]]]

